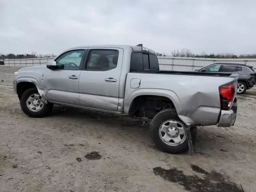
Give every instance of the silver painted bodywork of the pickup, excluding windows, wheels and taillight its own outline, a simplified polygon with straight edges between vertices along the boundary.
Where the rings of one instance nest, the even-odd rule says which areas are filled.
[[[218,123],[231,126],[235,119],[234,111],[221,110],[218,88],[231,82],[237,86],[237,74],[211,76],[198,72],[130,72],[131,54],[141,50],[140,47],[113,45],[73,49],[88,49],[87,52],[90,49],[118,50],[116,68],[86,70],[88,54],[85,52],[83,68],[79,70],[51,70],[46,66],[21,68],[14,79],[14,90],[20,82],[32,82],[45,102],[124,115],[129,115],[130,106],[138,96],[163,96],[173,102],[178,116],[188,126]],[[70,79],[69,76],[76,76],[77,79]]]

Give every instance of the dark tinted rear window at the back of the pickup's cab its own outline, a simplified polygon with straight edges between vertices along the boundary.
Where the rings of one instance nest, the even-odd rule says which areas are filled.
[[[159,70],[158,58],[148,52],[133,52],[130,71]]]

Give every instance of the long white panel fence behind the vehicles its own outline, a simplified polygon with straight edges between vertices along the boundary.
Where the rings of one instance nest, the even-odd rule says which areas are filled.
[[[5,66],[39,66],[54,58],[34,58],[34,59],[6,59]],[[256,68],[256,59],[210,59],[210,58],[191,58],[191,57],[158,57],[161,70],[188,71],[202,68],[216,63],[239,63],[253,66]]]

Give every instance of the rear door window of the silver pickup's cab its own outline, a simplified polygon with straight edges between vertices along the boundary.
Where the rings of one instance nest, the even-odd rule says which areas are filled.
[[[106,71],[116,68],[118,50],[91,50],[86,64],[88,71]]]

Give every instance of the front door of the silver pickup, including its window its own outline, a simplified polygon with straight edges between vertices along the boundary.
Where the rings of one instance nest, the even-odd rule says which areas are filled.
[[[48,92],[45,99],[60,104],[79,105],[78,82],[85,50],[72,50],[56,58],[60,69],[50,70],[42,77]]]

